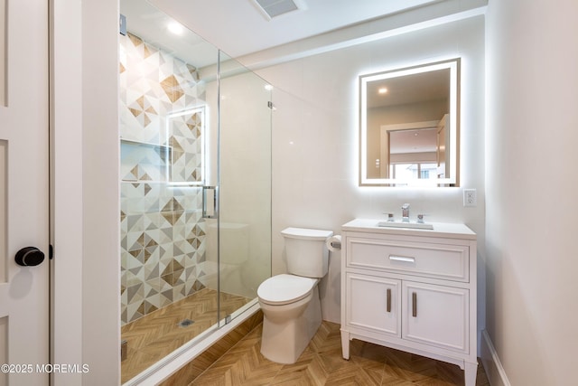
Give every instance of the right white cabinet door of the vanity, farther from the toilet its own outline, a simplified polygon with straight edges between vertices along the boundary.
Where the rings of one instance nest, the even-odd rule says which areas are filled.
[[[404,339],[468,353],[468,289],[404,281],[402,291]]]

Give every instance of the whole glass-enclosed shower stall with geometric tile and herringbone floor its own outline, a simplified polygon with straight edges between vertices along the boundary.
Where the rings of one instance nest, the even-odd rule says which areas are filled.
[[[243,317],[271,276],[272,103],[265,80],[166,14],[120,5],[121,379],[134,384]]]

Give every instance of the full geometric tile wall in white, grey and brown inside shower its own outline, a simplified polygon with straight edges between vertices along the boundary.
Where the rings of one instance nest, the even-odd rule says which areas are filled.
[[[120,35],[122,325],[200,290],[205,87],[191,65]]]

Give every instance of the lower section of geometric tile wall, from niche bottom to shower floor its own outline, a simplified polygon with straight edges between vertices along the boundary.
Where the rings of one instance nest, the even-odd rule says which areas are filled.
[[[122,320],[131,322],[201,289],[205,259],[200,188],[121,184]]]

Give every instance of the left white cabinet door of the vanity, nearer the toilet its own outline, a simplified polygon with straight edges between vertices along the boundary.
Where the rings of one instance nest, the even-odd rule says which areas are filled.
[[[378,334],[400,334],[400,281],[347,274],[347,325]]]

